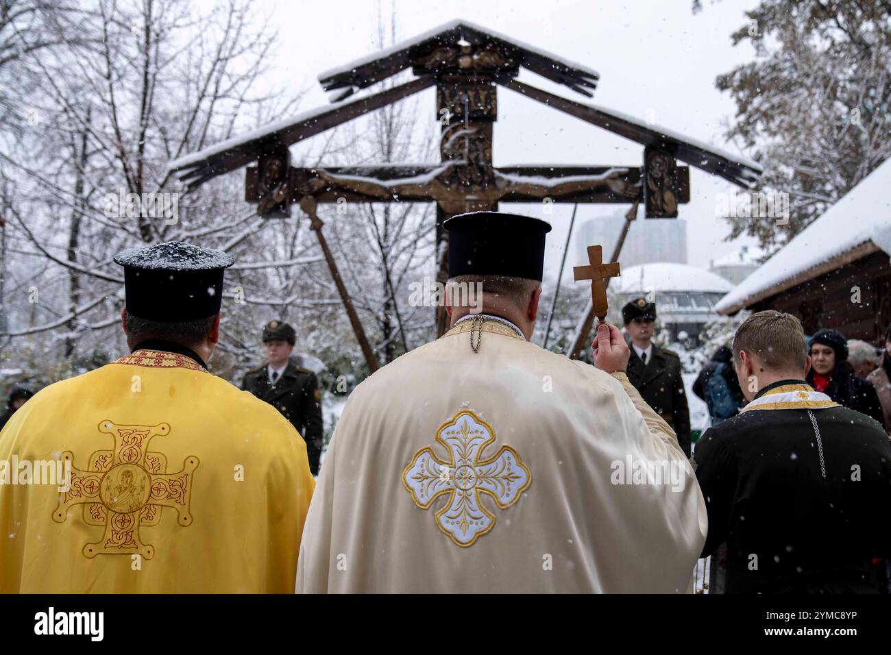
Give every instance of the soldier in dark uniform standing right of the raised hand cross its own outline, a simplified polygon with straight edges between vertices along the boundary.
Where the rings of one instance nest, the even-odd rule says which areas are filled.
[[[631,336],[628,380],[674,429],[683,452],[690,456],[690,408],[683,390],[681,358],[652,343],[656,303],[638,298],[622,307],[625,331]]]

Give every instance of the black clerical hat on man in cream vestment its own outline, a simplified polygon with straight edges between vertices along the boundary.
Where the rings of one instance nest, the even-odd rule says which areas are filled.
[[[443,223],[448,230],[448,276],[507,275],[542,280],[544,235],[538,218],[474,211]]]

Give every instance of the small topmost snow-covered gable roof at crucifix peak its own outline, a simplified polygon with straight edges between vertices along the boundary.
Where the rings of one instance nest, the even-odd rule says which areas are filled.
[[[400,70],[412,65],[409,51],[426,46],[457,44],[460,41],[477,44],[481,42],[501,42],[519,53],[520,66],[535,73],[552,78],[574,91],[591,96],[586,88],[597,86],[600,74],[576,61],[569,61],[546,50],[529,45],[519,39],[508,37],[494,29],[484,28],[470,20],[449,20],[436,28],[400,41],[396,45],[367,54],[341,66],[325,70],[319,74],[319,82],[330,95],[332,101],[342,100],[356,90],[371,86]]]

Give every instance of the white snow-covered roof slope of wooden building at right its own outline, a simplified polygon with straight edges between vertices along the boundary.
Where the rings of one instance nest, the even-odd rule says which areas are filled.
[[[891,254],[891,159],[864,177],[811,225],[797,233],[715,309],[735,314],[743,307],[829,272],[862,248]]]

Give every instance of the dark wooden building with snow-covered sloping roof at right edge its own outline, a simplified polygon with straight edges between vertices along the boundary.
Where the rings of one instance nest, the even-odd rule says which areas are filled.
[[[878,342],[891,324],[891,160],[797,233],[721,299],[724,315],[777,309],[805,333]]]

